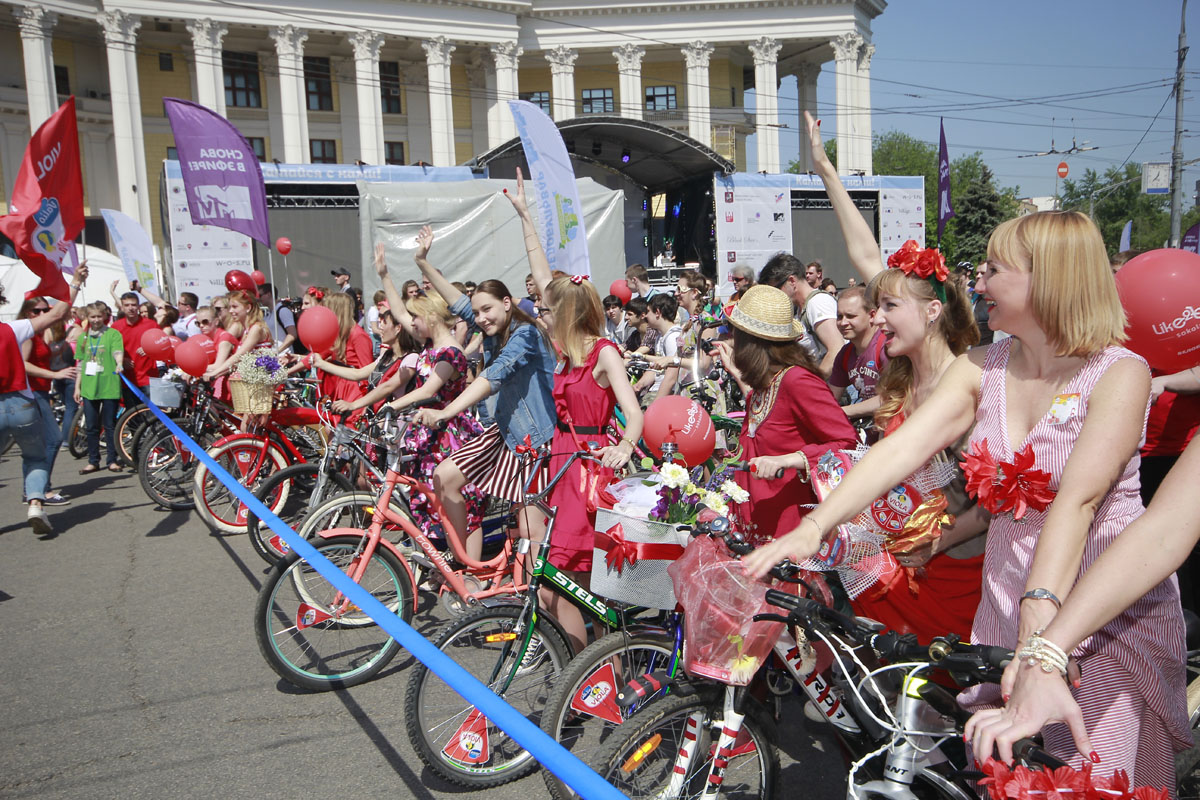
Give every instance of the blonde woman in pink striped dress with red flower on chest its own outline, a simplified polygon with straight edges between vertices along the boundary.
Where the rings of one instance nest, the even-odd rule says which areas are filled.
[[[1124,313],[1106,261],[1099,230],[1081,213],[1000,225],[977,289],[989,326],[1013,338],[960,356],[794,531],[746,558],[748,570],[815,553],[826,531],[976,423],[967,488],[992,522],[972,638],[1057,672],[1042,631],[1079,575],[1142,513],[1138,445],[1150,371],[1117,345]],[[1073,655],[1084,674],[1074,693],[1097,751],[1076,753],[1069,733],[1051,726],[1051,752],[1076,766],[1090,758],[1098,774],[1126,770],[1135,784],[1174,787],[1172,751],[1190,739],[1175,582],[1154,587]],[[1000,687],[967,700],[998,704]]]

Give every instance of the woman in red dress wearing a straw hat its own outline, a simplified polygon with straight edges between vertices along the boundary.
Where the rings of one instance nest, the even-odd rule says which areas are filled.
[[[792,301],[780,289],[751,287],[730,315],[732,342],[715,353],[746,396],[740,457],[758,480],[739,482],[749,492],[749,517],[760,535],[774,539],[798,525],[817,501],[809,464],[827,450],[853,447],[853,426],[797,338]],[[779,469],[787,471],[775,479]]]

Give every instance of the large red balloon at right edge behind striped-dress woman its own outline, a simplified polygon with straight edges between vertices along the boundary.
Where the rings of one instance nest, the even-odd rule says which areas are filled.
[[[1128,318],[1127,348],[1165,373],[1200,365],[1200,255],[1142,253],[1117,272],[1117,291]]]

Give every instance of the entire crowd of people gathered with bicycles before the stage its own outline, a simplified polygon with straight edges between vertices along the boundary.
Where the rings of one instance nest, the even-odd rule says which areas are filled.
[[[334,287],[308,288],[298,309],[277,302],[270,284],[209,306],[188,293],[172,306],[133,285],[114,294],[115,323],[102,302],[72,314],[71,303],[28,301],[0,327],[11,356],[0,359],[0,431],[20,446],[30,524],[49,533],[44,506],[66,501],[49,485],[61,440],[49,392],[85,414],[83,471],[101,469],[102,432],[107,468],[118,471],[113,419],[119,402],[134,402],[118,375],[144,391],[156,371],[142,336],[204,333],[217,344],[205,378],[220,396],[241,356],[272,349],[288,354],[293,372],[314,371],[338,411],[420,404],[406,443],[421,456],[414,469],[432,485],[448,530],[467,531],[461,543],[473,559],[486,498],[520,504],[527,482],[544,486],[569,453],[593,449],[600,463],[576,463],[553,491],[547,555],[587,587],[588,487],[630,462],[642,409],[694,393],[719,362],[745,397],[738,457],[762,476],[738,479],[749,494],[742,516],[762,543],[745,559],[751,573],[812,555],[908,476],[947,475],[925,498],[931,513],[896,521],[888,548],[899,569],[853,597],[856,613],[923,640],[956,633],[1019,652],[1003,685],[962,698],[977,711],[968,727],[977,753],[995,744],[1010,757],[1016,738],[1042,730],[1064,760],[1172,787],[1172,753],[1190,744],[1171,573],[1200,536],[1200,450],[1189,445],[1200,425],[1198,369],[1152,375],[1122,347],[1114,272],[1080,213],[1006,222],[979,264],[949,270],[940,253],[911,243],[886,267],[821,146],[820,122],[808,121],[815,172],[856,272],[841,290],[820,261],[779,253],[757,270],[733,266],[728,297],[697,271],[679,272],[673,291],[654,287],[638,264],[625,272],[629,299],[601,297],[587,278],[551,270],[518,173],[506,197],[528,254],[523,296],[497,279],[449,281],[425,227],[420,278],[398,289],[377,247],[383,288],[370,307],[344,269],[332,271]],[[72,296],[85,277],[82,267]],[[296,336],[298,315],[316,305],[338,324],[324,353],[307,353]],[[635,362],[649,368],[631,379]],[[625,425],[614,440],[617,408]],[[820,498],[815,461],[863,440],[866,455]],[[550,473],[533,475],[520,453],[546,443]],[[414,497],[413,512],[437,523],[430,498]],[[520,510],[518,525],[540,540],[546,521]],[[1140,569],[1130,573],[1133,563]],[[1184,572],[1183,602],[1194,608],[1200,581]],[[582,646],[578,610],[551,593],[544,602]]]

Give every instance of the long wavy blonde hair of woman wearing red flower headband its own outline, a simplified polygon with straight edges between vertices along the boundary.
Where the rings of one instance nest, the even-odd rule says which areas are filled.
[[[946,302],[937,318],[937,325],[930,326],[925,336],[940,336],[954,355],[962,355],[979,343],[979,326],[971,313],[966,295],[958,281],[948,279]],[[908,296],[917,302],[928,305],[937,300],[932,284],[925,278],[905,275],[900,270],[883,270],[868,287],[870,305],[878,307],[884,294]],[[886,429],[888,422],[900,415],[912,401],[916,373],[912,360],[906,355],[895,356],[880,374],[876,393],[880,396],[880,410],[875,413],[875,425]]]

